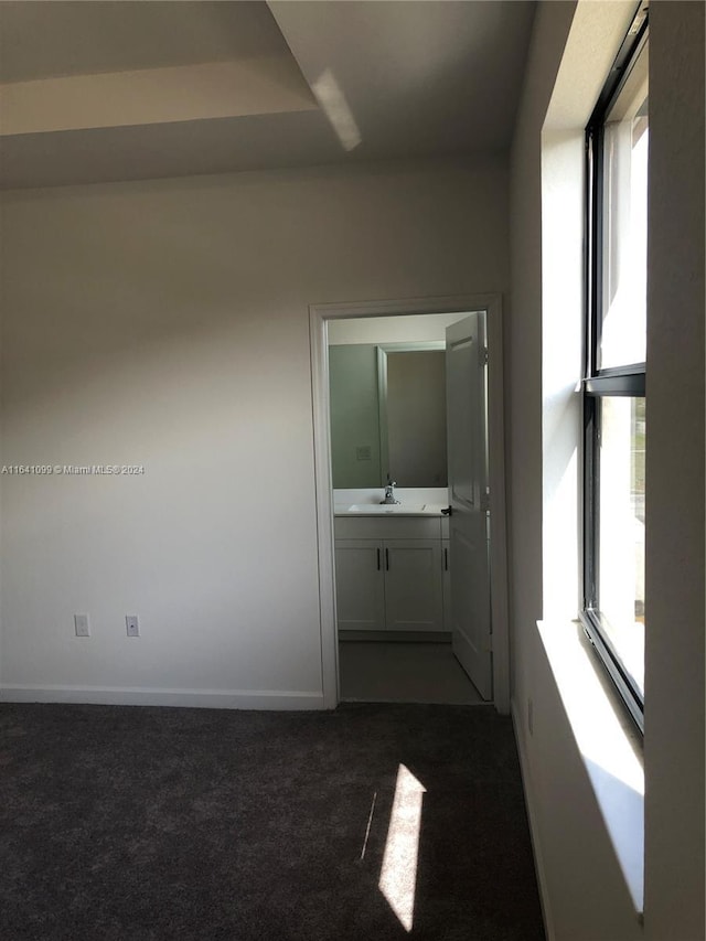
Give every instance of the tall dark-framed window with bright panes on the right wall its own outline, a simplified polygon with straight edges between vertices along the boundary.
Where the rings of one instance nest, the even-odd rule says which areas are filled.
[[[630,713],[644,708],[646,9],[587,127],[584,389],[586,632]]]

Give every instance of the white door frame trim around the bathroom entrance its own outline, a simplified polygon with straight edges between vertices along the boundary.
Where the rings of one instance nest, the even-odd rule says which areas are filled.
[[[500,293],[404,300],[351,301],[310,304],[311,393],[313,406],[313,459],[319,556],[319,619],[323,707],[340,702],[339,644],[335,619],[333,536],[333,480],[329,407],[330,320],[406,317],[409,314],[472,313],[488,318],[488,437],[490,483],[490,589],[493,624],[493,703],[510,713],[510,628],[507,623],[507,539],[505,523],[505,436],[503,411],[503,318]]]

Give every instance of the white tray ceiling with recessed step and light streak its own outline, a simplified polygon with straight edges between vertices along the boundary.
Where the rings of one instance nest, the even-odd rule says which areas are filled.
[[[533,2],[0,2],[0,185],[505,149]],[[322,75],[361,142],[312,94]]]

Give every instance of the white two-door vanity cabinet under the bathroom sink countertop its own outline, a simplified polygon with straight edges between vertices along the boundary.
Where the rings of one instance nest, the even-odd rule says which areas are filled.
[[[438,518],[336,517],[339,630],[448,630],[447,558]]]

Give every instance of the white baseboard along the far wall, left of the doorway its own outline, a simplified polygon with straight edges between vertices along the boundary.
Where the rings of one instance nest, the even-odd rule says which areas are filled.
[[[272,689],[154,689],[118,686],[0,686],[1,703],[185,706],[203,709],[323,709],[323,693]]]

